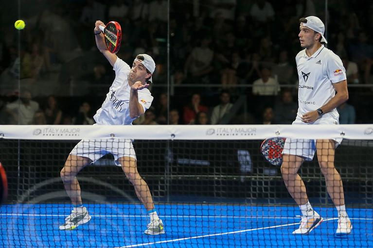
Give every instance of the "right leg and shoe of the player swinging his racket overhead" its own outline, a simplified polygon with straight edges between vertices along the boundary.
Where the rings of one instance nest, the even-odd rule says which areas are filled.
[[[135,187],[137,197],[140,199],[150,216],[150,223],[144,232],[152,235],[164,233],[163,223],[154,209],[153,198],[150,194],[149,187],[137,171],[136,160],[132,157],[121,157],[118,161],[122,165],[125,176]]]

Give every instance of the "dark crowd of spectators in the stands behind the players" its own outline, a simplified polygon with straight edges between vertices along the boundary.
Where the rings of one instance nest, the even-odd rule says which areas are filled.
[[[127,64],[141,53],[157,64],[152,107],[134,124],[291,124],[299,18],[325,22],[324,1],[172,0],[169,7],[167,0],[24,2],[20,46],[19,33],[1,35],[0,83],[20,79],[20,87],[0,86],[0,124],[94,123],[115,75],[95,46],[96,20],[121,24],[117,55]],[[372,123],[373,87],[365,86],[373,83],[373,2],[329,0],[325,23],[328,48],[353,85],[340,123]]]

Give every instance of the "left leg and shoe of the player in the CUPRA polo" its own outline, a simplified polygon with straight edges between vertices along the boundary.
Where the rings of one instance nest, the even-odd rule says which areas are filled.
[[[309,203],[304,182],[298,174],[303,162],[304,159],[300,156],[284,154],[283,164],[281,165],[281,173],[286,188],[302,211],[300,226],[293,231],[293,234],[308,234],[322,222],[320,215],[313,210]]]

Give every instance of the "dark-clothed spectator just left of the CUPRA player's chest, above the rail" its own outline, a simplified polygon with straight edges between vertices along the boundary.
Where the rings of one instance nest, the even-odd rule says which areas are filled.
[[[272,74],[280,84],[293,83],[294,66],[289,62],[286,50],[280,51],[279,61],[273,67]]]

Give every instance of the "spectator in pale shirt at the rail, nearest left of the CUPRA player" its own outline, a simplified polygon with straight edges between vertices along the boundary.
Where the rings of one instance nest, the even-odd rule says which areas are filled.
[[[252,83],[252,94],[258,96],[277,96],[280,91],[279,83],[271,77],[271,70],[263,66],[261,69],[261,78]]]

